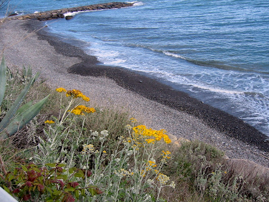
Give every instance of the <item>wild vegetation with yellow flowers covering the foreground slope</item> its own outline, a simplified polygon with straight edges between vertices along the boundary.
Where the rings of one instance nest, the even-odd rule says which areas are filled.
[[[1,121],[31,80],[23,72],[6,69]],[[40,113],[0,142],[0,184],[19,201],[269,198],[268,179],[235,174],[222,151],[199,141],[179,147],[165,130],[147,128],[127,111],[92,106],[80,90],[36,81],[21,105],[48,94]]]

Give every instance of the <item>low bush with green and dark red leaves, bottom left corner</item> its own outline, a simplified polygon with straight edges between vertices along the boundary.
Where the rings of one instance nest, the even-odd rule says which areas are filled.
[[[39,167],[33,163],[21,165],[13,172],[8,172],[4,189],[19,200],[66,201],[73,202],[75,198],[86,196],[85,190],[91,195],[102,193],[96,186],[82,187],[81,183],[91,176],[91,171],[85,169],[63,167],[65,164],[49,163],[47,167]],[[76,181],[73,181],[76,180]],[[75,197],[74,197],[75,196]]]

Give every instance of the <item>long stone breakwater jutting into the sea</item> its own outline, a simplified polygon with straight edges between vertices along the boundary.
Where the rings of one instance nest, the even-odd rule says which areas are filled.
[[[125,7],[133,6],[132,3],[123,3],[123,2],[112,2],[112,3],[105,3],[105,4],[95,4],[89,6],[80,6],[68,9],[59,9],[59,10],[52,10],[52,11],[45,11],[21,16],[12,16],[8,17],[8,20],[29,20],[29,19],[37,19],[40,21],[45,20],[52,20],[57,18],[65,18],[64,14],[66,13],[73,13],[79,11],[95,11],[95,10],[106,10],[106,9],[120,9]],[[70,18],[66,18],[70,19]]]

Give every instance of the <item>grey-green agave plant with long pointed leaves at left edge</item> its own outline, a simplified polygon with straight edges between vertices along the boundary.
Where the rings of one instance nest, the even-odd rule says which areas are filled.
[[[2,105],[3,99],[5,97],[6,84],[7,84],[7,75],[6,75],[7,65],[5,58],[3,57],[2,63],[0,65],[0,106]],[[11,106],[11,108],[6,113],[5,117],[0,122],[0,139],[7,138],[23,126],[25,126],[29,121],[31,121],[41,110],[45,104],[49,95],[41,99],[38,103],[32,105],[32,101],[23,105],[21,108],[20,105],[23,102],[23,99],[28,92],[31,85],[38,78],[39,73],[37,73],[18,95],[17,99]]]

